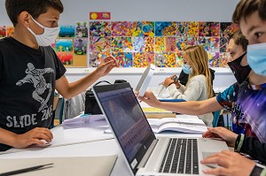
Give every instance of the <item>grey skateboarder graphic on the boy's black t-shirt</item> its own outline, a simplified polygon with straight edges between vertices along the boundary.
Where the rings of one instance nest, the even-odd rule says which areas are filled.
[[[27,69],[25,71],[27,76],[22,80],[19,80],[16,85],[22,86],[24,83],[32,83],[35,87],[35,91],[32,93],[33,98],[41,103],[39,111],[42,111],[44,108],[47,108],[47,102],[51,96],[51,83],[46,83],[46,80],[43,77],[45,73],[54,73],[51,68],[36,69],[32,63],[27,64]],[[43,98],[42,95],[46,89],[49,89],[49,94],[46,98]]]

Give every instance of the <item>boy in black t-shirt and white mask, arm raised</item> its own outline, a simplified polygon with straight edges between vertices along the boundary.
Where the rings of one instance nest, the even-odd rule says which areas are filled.
[[[49,45],[59,34],[60,0],[6,0],[15,32],[0,40],[0,151],[51,142],[55,89],[68,98],[109,73],[112,56],[90,75],[68,83],[66,68]]]

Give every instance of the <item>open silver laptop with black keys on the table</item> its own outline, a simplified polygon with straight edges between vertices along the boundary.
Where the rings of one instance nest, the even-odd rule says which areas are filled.
[[[94,86],[132,175],[204,175],[200,160],[228,149],[203,138],[156,138],[129,83]]]

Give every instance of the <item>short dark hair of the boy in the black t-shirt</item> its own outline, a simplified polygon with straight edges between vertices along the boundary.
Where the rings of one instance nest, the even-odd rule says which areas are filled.
[[[37,19],[49,8],[60,13],[64,11],[60,0],[5,0],[5,9],[14,27],[18,24],[18,17],[22,11],[27,11],[34,19]]]

